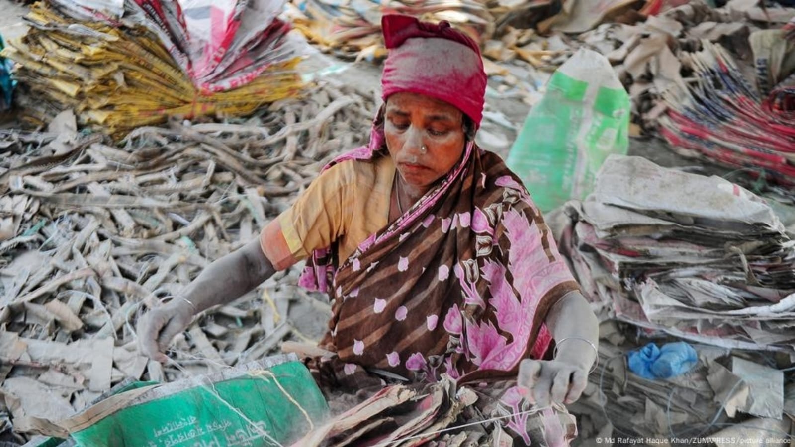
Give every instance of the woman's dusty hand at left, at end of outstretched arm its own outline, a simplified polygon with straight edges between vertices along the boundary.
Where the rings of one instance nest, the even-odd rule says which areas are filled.
[[[180,298],[149,310],[138,320],[138,349],[152,360],[161,363],[169,360],[165,349],[177,333],[191,324],[192,319],[193,307]]]

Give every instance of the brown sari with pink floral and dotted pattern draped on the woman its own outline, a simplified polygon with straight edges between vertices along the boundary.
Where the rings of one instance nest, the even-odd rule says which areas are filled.
[[[370,145],[329,166],[382,156],[389,155],[378,118]],[[520,360],[549,349],[550,307],[578,288],[525,187],[472,141],[436,187],[335,264],[333,247],[317,251],[300,281],[333,302],[320,347],[337,356],[312,362],[320,383],[360,387],[373,371],[413,381],[441,374],[459,383],[502,381],[492,391],[503,410],[521,407],[511,388]],[[560,439],[576,434],[571,417],[559,416],[549,410],[545,418],[566,422],[558,424]],[[527,417],[512,424],[529,442],[518,429],[532,425]]]

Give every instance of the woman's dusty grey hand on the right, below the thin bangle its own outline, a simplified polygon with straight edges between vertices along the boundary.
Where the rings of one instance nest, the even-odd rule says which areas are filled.
[[[525,359],[517,378],[525,399],[537,407],[573,403],[588,385],[588,368],[564,360]]]

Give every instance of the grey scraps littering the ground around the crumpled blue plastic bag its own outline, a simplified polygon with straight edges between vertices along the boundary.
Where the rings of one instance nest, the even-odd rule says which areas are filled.
[[[568,406],[577,415],[580,439],[679,438],[712,446],[707,437],[729,438],[746,426],[762,430],[746,438],[791,433],[795,388],[785,385],[785,373],[769,356],[693,345],[698,363],[690,371],[647,380],[626,367],[626,354],[637,348],[619,325],[603,323],[602,333],[599,367],[588,376],[583,397]]]

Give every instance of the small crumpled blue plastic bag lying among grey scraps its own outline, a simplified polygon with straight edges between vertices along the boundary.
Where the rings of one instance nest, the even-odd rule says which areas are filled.
[[[630,370],[645,379],[668,379],[690,371],[698,363],[696,349],[684,341],[662,348],[650,343],[627,355]]]

